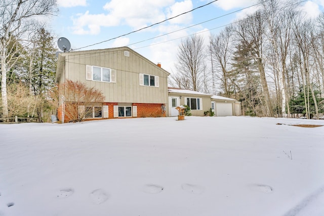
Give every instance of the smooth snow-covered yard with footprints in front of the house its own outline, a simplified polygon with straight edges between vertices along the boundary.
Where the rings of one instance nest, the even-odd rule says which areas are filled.
[[[324,215],[324,120],[176,119],[0,124],[0,215]]]

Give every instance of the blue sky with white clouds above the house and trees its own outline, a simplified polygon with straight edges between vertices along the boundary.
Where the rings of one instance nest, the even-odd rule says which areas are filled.
[[[71,48],[78,49],[138,30],[210,2],[212,0],[58,0],[60,13],[53,19],[52,28],[57,38],[68,38]],[[172,73],[181,38],[202,32],[200,34],[208,44],[209,36],[220,31],[221,26],[253,12],[255,7],[215,18],[252,6],[256,2],[218,0],[170,21],[82,50],[128,46],[154,63],[161,62],[162,67]],[[315,16],[323,10],[323,6],[324,0],[311,0],[304,3],[303,10],[310,16]],[[211,19],[214,20],[195,25]],[[191,25],[195,26],[186,28]],[[177,32],[150,39],[173,31]],[[140,42],[142,40],[147,41]]]

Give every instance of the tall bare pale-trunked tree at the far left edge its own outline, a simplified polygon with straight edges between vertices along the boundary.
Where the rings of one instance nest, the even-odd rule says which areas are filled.
[[[0,2],[0,58],[1,94],[3,117],[8,117],[7,72],[20,58],[21,50],[8,49],[9,44],[17,47],[22,40],[28,40],[29,33],[38,25],[34,18],[54,15],[56,0],[2,0]]]

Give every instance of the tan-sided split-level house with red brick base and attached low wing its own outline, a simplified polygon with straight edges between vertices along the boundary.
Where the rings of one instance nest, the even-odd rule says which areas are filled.
[[[169,75],[159,63],[149,61],[128,47],[120,47],[60,53],[56,82],[80,81],[103,94],[102,102],[75,107],[93,110],[93,114],[85,116],[87,119],[176,116],[175,107],[183,104],[191,107],[192,115],[203,116],[210,108],[215,109],[217,115],[217,99],[209,94],[168,89]],[[68,122],[65,104],[73,101],[62,98],[59,97],[58,118]],[[220,101],[235,103],[231,100]],[[233,108],[227,114],[237,115]]]

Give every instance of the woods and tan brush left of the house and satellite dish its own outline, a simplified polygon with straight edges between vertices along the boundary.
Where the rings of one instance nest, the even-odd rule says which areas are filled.
[[[49,118],[57,60],[41,20],[57,12],[56,0],[0,2],[1,117]]]

